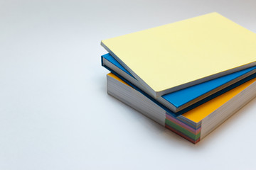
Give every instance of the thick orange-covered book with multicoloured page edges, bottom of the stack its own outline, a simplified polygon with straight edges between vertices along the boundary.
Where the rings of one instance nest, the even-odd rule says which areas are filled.
[[[251,79],[182,115],[170,114],[112,73],[107,74],[107,93],[196,144],[255,98],[255,81]]]

